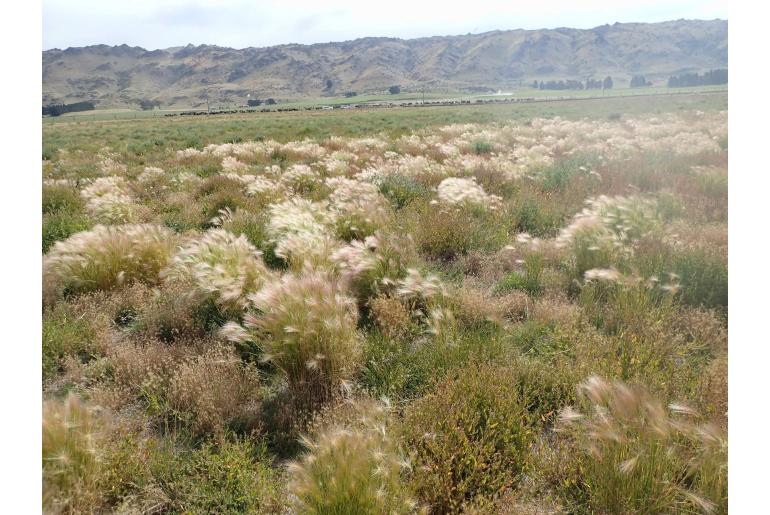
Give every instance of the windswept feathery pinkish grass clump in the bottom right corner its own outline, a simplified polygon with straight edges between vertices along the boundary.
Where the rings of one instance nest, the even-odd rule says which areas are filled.
[[[560,418],[584,452],[580,485],[592,511],[727,513],[727,441],[715,426],[620,382],[592,377],[581,392],[586,414],[567,408]]]

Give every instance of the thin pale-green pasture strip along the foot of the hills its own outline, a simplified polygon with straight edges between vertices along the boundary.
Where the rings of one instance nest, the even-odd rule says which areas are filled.
[[[503,91],[494,94],[469,94],[469,93],[441,93],[441,92],[426,92],[422,93],[400,93],[398,95],[358,95],[355,97],[317,97],[317,98],[303,98],[297,100],[283,101],[274,106],[262,105],[259,107],[250,108],[251,111],[261,111],[262,109],[269,109],[271,111],[277,111],[278,109],[307,109],[318,108],[320,106],[332,106],[340,107],[343,105],[366,105],[366,104],[384,104],[392,103],[396,105],[400,104],[416,104],[421,103],[423,99],[426,102],[455,102],[455,101],[477,101],[477,100],[506,100],[506,99],[522,99],[533,98],[536,100],[565,100],[572,98],[610,98],[610,97],[628,97],[638,95],[681,95],[691,93],[713,93],[713,92],[726,92],[727,86],[699,86],[692,88],[666,88],[666,87],[649,87],[649,88],[618,88],[611,89],[602,92],[601,90],[536,90],[531,88],[519,89],[515,91]],[[236,104],[220,104],[212,102],[211,110],[231,110],[231,109],[244,109]],[[167,114],[178,114],[185,111],[205,111],[200,107],[184,107],[174,109],[160,109],[155,111],[141,111],[127,108],[105,108],[97,109],[96,111],[81,111],[76,113],[67,113],[60,117],[44,118],[44,123],[64,123],[73,118],[78,120],[120,120],[120,119],[144,119],[144,118],[159,118]],[[262,113],[260,113],[262,114]]]

